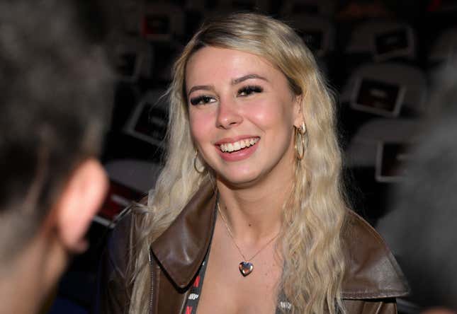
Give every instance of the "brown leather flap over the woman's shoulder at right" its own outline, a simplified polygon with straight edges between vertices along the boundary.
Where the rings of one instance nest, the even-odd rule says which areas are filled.
[[[405,275],[383,238],[354,211],[348,211],[342,240],[347,263],[343,298],[395,298],[409,293]]]

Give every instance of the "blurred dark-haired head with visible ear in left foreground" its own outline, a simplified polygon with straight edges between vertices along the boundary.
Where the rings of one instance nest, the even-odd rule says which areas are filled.
[[[106,192],[111,72],[68,4],[0,2],[1,313],[36,311]]]

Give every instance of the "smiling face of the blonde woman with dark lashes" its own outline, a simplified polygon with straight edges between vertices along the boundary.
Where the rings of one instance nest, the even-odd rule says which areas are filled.
[[[246,186],[293,175],[302,117],[281,71],[254,54],[204,47],[186,66],[186,93],[191,134],[219,179]]]

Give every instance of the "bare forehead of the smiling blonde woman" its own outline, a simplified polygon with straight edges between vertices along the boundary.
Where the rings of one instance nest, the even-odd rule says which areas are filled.
[[[236,79],[246,74],[283,75],[263,57],[249,52],[219,47],[204,47],[194,53],[186,65],[186,82],[211,83],[215,79]]]

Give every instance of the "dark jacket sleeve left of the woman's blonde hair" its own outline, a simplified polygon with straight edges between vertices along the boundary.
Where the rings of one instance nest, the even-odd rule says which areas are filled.
[[[98,267],[97,293],[92,312],[127,314],[130,291],[125,276],[129,256],[130,215],[116,225]]]

